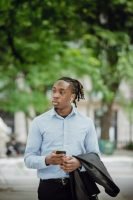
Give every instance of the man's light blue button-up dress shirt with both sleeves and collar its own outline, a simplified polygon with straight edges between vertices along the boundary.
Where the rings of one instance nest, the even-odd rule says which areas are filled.
[[[58,115],[53,108],[32,121],[24,155],[26,166],[37,169],[41,179],[67,177],[68,174],[59,165],[45,164],[45,157],[55,150],[65,150],[67,155],[99,154],[93,121],[74,106],[66,118]]]

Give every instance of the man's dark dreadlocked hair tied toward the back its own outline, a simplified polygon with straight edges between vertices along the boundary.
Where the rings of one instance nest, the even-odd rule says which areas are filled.
[[[63,80],[70,83],[73,93],[75,94],[75,99],[73,100],[73,103],[77,107],[76,101],[80,101],[80,99],[84,99],[83,85],[78,80],[70,78],[70,77],[61,77],[58,80]]]

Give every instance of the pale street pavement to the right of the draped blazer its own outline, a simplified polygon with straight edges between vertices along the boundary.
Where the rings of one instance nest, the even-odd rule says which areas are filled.
[[[115,199],[133,200],[133,157],[113,157],[103,159],[110,175],[120,188],[120,194]],[[103,192],[104,193],[104,192]],[[112,200],[113,198],[102,193],[101,200]]]

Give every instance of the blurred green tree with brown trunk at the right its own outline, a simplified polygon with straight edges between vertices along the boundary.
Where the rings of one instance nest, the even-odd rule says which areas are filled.
[[[92,65],[91,78],[93,92],[102,96],[101,137],[109,139],[112,105],[119,86],[122,80],[133,78],[133,2],[102,0],[77,4],[84,27],[82,39],[88,49],[94,49],[95,60],[99,61],[99,65]]]

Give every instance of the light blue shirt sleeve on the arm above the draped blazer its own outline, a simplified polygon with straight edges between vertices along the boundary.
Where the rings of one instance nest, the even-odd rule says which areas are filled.
[[[93,121],[90,118],[88,121],[88,130],[85,138],[85,149],[87,153],[94,152],[100,155],[96,129]]]

